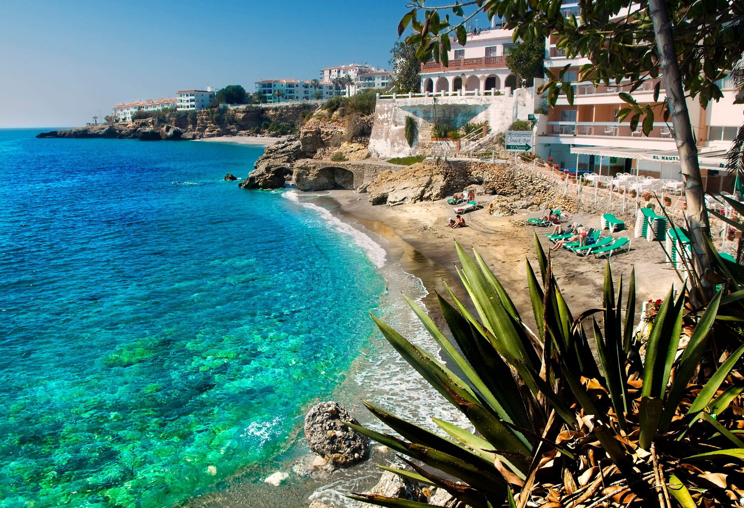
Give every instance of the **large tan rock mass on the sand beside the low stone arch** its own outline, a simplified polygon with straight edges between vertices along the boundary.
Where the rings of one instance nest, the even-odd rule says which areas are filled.
[[[448,190],[444,177],[421,163],[380,173],[367,187],[373,205],[388,206],[442,199]]]

